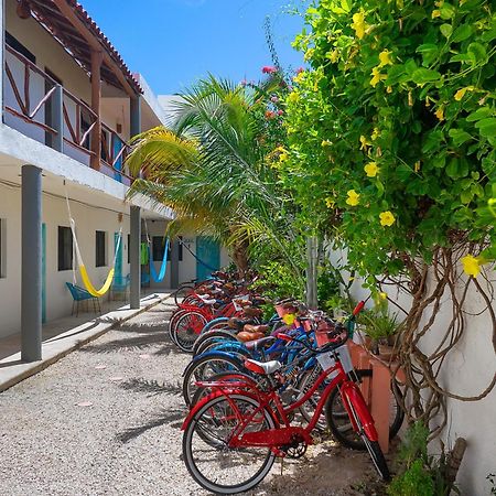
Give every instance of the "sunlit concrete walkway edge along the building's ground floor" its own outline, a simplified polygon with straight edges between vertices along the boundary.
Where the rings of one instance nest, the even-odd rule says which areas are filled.
[[[20,352],[3,358],[0,360],[0,392],[45,369],[71,352],[80,348],[90,341],[119,326],[122,322],[152,309],[169,296],[169,293],[150,294],[141,299],[140,309],[130,310],[129,305],[125,305],[58,334],[55,337],[51,337],[43,342],[43,358],[41,360],[31,363],[21,362]]]

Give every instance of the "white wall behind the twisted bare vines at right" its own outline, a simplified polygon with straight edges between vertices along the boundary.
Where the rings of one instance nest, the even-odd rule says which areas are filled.
[[[334,252],[331,256],[334,263],[345,258],[344,252]],[[494,267],[487,270],[489,279],[494,278]],[[482,278],[479,279],[481,284],[484,285],[485,282]],[[493,291],[496,291],[494,283]],[[362,281],[356,280],[352,287],[352,294],[356,300],[362,300],[369,293],[362,288]],[[389,291],[389,296],[403,309],[409,309],[410,296],[396,289]],[[492,304],[496,308],[494,301]],[[496,356],[492,344],[493,327],[487,312],[483,312],[485,308],[484,300],[472,285],[466,301],[464,336],[450,353],[440,375],[441,386],[453,393],[477,396],[496,374]],[[395,311],[392,304],[390,309]],[[401,312],[399,315],[401,316]],[[446,295],[434,325],[421,341],[424,353],[432,353],[436,348],[450,321],[451,300]],[[467,450],[457,476],[461,494],[486,496],[490,494],[486,476],[489,473],[496,473],[496,390],[493,390],[485,399],[475,402],[449,399],[448,410],[449,423],[442,435],[446,446],[453,446],[459,436],[467,441]],[[431,450],[433,453],[438,452],[439,444],[432,443]]]

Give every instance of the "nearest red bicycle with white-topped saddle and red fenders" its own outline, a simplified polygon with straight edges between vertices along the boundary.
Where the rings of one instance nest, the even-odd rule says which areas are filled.
[[[354,315],[362,308],[363,302]],[[353,326],[352,321],[349,326]],[[184,462],[202,487],[216,494],[249,490],[267,476],[277,456],[302,456],[306,446],[313,443],[311,433],[335,388],[377,472],[385,481],[389,479],[374,419],[357,385],[358,378],[345,345],[348,328],[335,324],[328,334],[333,341],[316,348],[279,334],[287,341],[299,341],[309,353],[317,356],[322,366],[313,386],[289,406],[283,406],[277,392],[283,376],[279,373],[283,366],[277,360],[245,362],[247,369],[258,375],[259,381],[240,377],[239,380],[198,382],[213,392],[195,405],[182,429]],[[324,389],[321,386],[325,386]],[[292,413],[310,401],[319,388],[320,399],[310,423],[304,428],[291,425]]]

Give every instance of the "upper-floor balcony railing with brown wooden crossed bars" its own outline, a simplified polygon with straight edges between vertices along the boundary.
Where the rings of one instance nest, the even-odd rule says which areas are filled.
[[[89,166],[98,115],[11,46],[6,45],[6,52],[3,121]],[[100,140],[100,172],[131,184],[125,168],[129,144],[103,122]]]

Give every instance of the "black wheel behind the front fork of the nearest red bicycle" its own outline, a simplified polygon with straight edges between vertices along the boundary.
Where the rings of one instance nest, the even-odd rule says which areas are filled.
[[[359,378],[371,377],[373,371],[368,369],[355,370]],[[343,405],[343,398],[337,388],[334,388],[325,403],[325,419],[336,441],[352,450],[365,451],[365,445],[349,420],[348,412]],[[395,438],[403,423],[405,412],[401,410],[395,395],[391,395],[389,408],[389,439]]]

